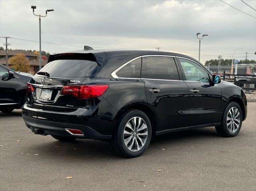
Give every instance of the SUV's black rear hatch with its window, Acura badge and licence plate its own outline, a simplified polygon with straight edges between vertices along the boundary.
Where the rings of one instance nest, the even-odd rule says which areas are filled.
[[[75,55],[62,58],[52,61],[49,59],[50,62],[30,80],[32,91],[28,91],[28,102],[34,108],[70,112],[79,106],[85,106],[85,101],[88,102],[68,93],[62,94],[62,89],[64,86],[78,87],[87,77],[93,75],[99,65],[91,58],[81,59]]]

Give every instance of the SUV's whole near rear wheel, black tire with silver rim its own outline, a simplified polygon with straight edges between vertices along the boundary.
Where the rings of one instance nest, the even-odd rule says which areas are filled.
[[[134,158],[146,151],[151,135],[152,128],[148,116],[140,110],[133,109],[121,116],[111,143],[117,154]]]

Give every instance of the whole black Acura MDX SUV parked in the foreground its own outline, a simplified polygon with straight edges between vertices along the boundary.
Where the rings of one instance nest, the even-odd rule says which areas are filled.
[[[94,50],[50,55],[28,83],[22,109],[35,134],[108,140],[132,158],[152,137],[215,126],[233,137],[246,118],[243,90],[186,55]]]

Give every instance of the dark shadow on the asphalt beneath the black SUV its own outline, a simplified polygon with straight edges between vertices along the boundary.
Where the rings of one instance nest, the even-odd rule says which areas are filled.
[[[168,148],[172,144],[179,144],[179,142],[190,142],[198,139],[208,139],[216,138],[214,128],[203,128],[196,130],[188,130],[182,132],[174,132],[170,134],[164,134],[156,136],[154,140],[151,141],[147,154],[154,152],[154,150],[159,150],[159,148]],[[75,140],[73,142],[60,142],[50,139],[49,142],[43,143],[38,142],[36,144],[31,144],[30,147],[26,148],[28,153],[40,153],[40,155],[45,155],[45,159],[57,159],[62,158],[67,161],[91,161],[98,158],[103,160],[117,159],[123,160],[122,158],[115,154],[112,146],[109,142],[96,141],[96,140]],[[143,157],[144,155],[142,155]]]

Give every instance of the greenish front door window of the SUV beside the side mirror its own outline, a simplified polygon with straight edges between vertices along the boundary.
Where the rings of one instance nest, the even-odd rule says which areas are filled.
[[[186,81],[210,82],[208,73],[193,61],[179,58]]]

